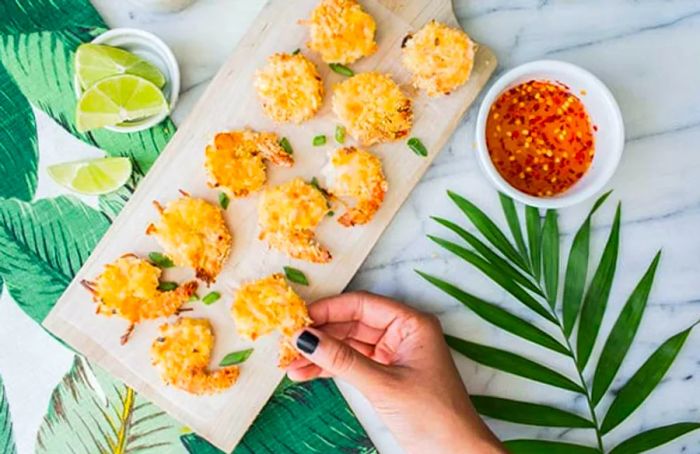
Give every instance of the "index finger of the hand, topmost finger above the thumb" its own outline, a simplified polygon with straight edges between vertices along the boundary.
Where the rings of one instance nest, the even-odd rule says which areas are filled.
[[[399,317],[416,314],[419,312],[403,303],[367,292],[343,293],[309,305],[309,315],[317,326],[359,321],[384,329]]]

